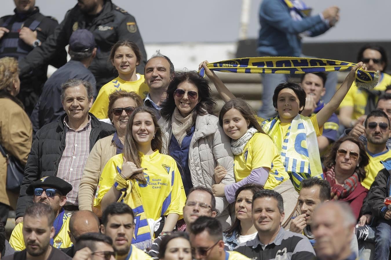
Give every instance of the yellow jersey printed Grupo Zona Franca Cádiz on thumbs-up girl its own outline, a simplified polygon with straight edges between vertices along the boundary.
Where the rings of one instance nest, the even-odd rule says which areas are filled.
[[[151,155],[144,155],[141,152],[139,154],[147,183],[139,184],[135,179],[131,179],[131,184],[141,197],[146,218],[157,220],[161,216],[167,216],[171,213],[182,216],[186,195],[174,158],[160,154],[159,150],[154,151]],[[122,168],[122,156],[123,154],[117,154],[111,157],[104,167],[97,186],[94,207],[100,208],[103,196],[113,186],[114,178]],[[130,195],[125,196],[125,203],[127,197]]]

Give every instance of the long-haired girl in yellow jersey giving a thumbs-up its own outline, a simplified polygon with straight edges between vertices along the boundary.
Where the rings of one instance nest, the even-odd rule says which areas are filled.
[[[174,229],[186,200],[176,162],[160,154],[161,143],[155,112],[136,108],[127,125],[124,153],[108,161],[95,195],[94,206],[102,211],[116,201],[133,209],[132,244],[140,249],[150,247],[160,232]]]

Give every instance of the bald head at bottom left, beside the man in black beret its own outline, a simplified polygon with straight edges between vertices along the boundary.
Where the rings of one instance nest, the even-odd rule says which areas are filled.
[[[69,220],[69,237],[75,244],[77,237],[89,232],[99,233],[99,219],[89,210],[75,211]]]

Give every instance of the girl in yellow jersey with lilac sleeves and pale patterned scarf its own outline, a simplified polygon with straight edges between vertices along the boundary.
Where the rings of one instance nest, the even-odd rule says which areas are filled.
[[[258,184],[264,189],[274,189],[283,196],[285,220],[291,218],[298,198],[289,175],[281,161],[281,155],[273,140],[264,133],[255,111],[243,99],[232,99],[222,107],[219,123],[231,138],[231,151],[235,154],[236,183],[216,184],[213,192],[226,196],[229,203],[235,201],[235,193],[244,184]],[[224,175],[226,169],[215,168],[215,176]],[[285,223],[283,223],[285,224]]]

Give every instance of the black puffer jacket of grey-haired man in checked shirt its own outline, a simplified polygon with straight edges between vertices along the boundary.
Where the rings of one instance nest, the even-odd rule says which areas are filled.
[[[113,134],[115,129],[110,124],[100,122],[94,115],[91,116],[90,150],[96,141]],[[32,143],[20,196],[16,206],[16,218],[22,217],[24,210],[32,203],[32,196],[26,194],[30,183],[44,177],[55,176],[57,165],[65,149],[64,114],[58,122],[52,122],[38,130]]]

